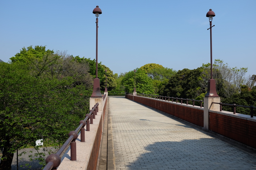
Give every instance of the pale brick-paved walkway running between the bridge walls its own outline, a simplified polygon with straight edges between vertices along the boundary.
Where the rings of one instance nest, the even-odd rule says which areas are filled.
[[[210,133],[125,98],[109,96],[115,168],[256,169],[256,157]]]

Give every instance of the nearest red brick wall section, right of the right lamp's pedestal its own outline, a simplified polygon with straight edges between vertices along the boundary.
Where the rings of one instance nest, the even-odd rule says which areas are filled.
[[[256,122],[209,112],[209,130],[256,148]]]

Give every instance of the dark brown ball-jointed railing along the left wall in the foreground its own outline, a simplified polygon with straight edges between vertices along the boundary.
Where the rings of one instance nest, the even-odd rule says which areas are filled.
[[[69,138],[62,145],[62,147],[57,151],[57,153],[53,153],[47,156],[46,166],[44,167],[43,170],[56,170],[57,167],[60,165],[60,161],[61,161],[60,156],[67,149],[69,144],[70,144],[70,153],[71,153],[70,160],[71,161],[77,160],[76,139],[78,137],[78,132],[81,129],[81,142],[85,142],[84,126],[86,125],[86,131],[90,131],[90,124],[93,124],[93,119],[95,119],[95,115],[97,115],[97,112],[99,111],[98,106],[99,106],[99,103],[96,103],[94,107],[92,107],[92,110],[89,111],[89,114],[85,115],[86,116],[85,119],[80,120],[79,126],[76,128],[76,130],[69,132],[68,134]]]

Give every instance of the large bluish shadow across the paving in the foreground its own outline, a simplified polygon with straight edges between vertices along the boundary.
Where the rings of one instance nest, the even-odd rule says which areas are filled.
[[[214,138],[155,142],[127,169],[255,169],[256,157]]]

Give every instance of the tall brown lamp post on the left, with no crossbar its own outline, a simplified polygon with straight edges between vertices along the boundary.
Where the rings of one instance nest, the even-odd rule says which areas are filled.
[[[96,78],[93,80],[93,91],[91,97],[102,98],[100,93],[100,79],[98,79],[98,17],[102,14],[101,9],[97,5],[92,11],[96,18]]]

